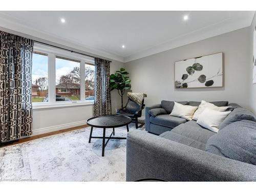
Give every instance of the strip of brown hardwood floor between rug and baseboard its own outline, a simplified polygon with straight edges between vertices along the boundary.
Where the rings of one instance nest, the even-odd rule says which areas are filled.
[[[43,138],[43,137],[57,135],[57,134],[60,134],[60,133],[65,133],[65,132],[70,132],[70,131],[82,129],[82,128],[88,127],[88,126],[89,125],[80,125],[80,126],[71,127],[71,128],[65,129],[65,130],[58,130],[58,131],[54,131],[54,132],[50,132],[50,133],[44,133],[44,134],[35,135],[35,136],[27,137],[27,138],[17,139],[17,140],[14,140],[14,141],[8,141],[8,142],[5,142],[5,143],[0,143],[0,147],[15,145],[15,144],[18,144],[18,143],[24,143],[24,142],[31,141],[31,140],[34,140],[34,139],[39,139],[39,138]]]

